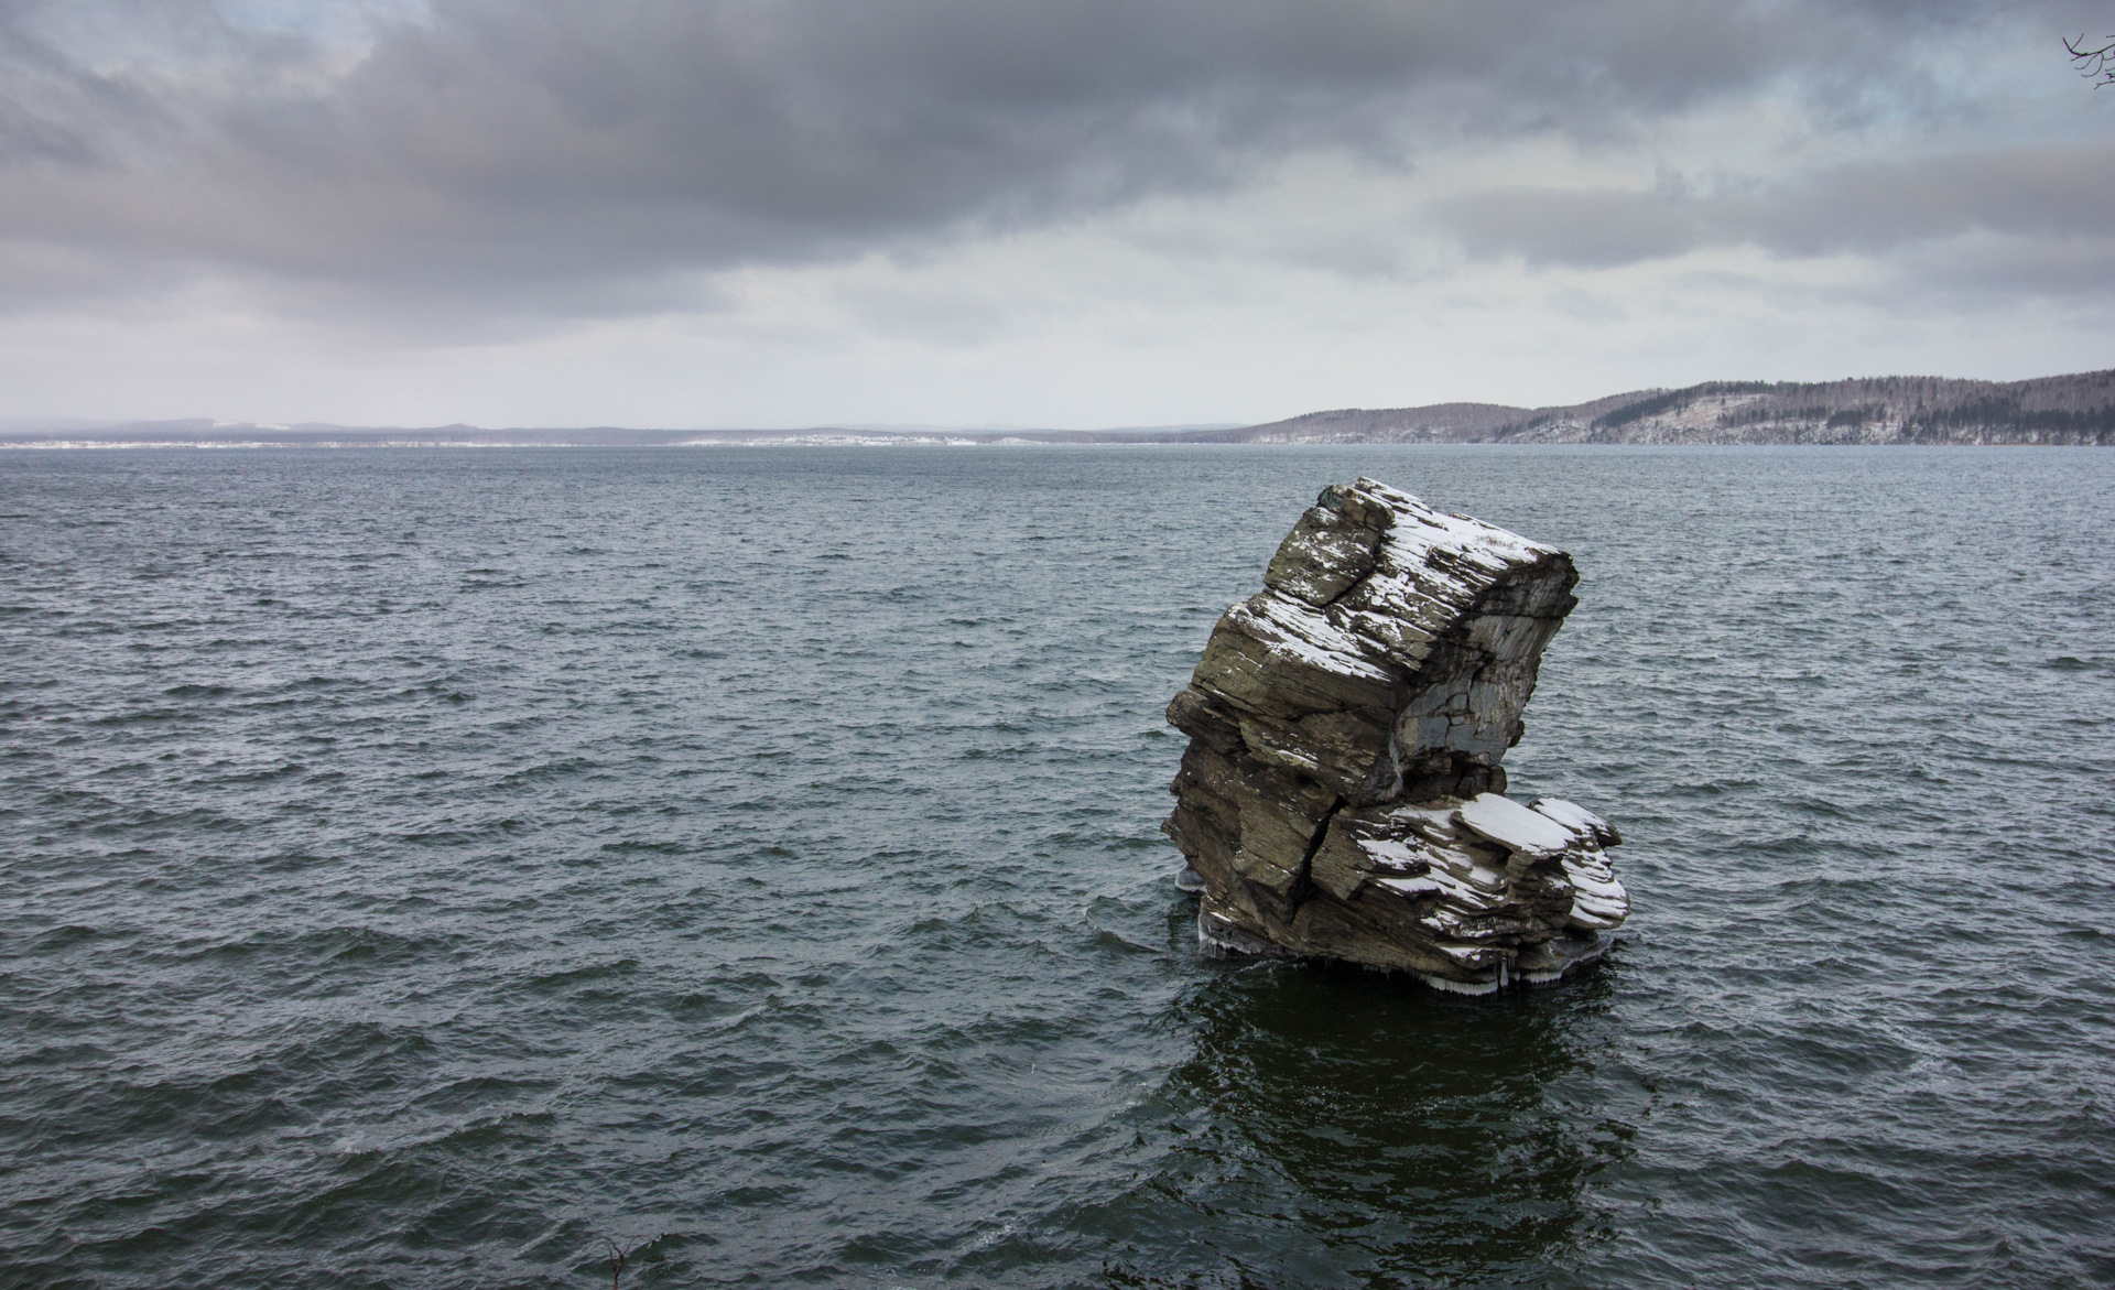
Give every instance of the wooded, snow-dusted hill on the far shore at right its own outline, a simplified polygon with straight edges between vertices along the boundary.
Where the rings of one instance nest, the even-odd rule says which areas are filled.
[[[2115,444],[2115,370],[2033,381],[1707,381],[1563,408],[1343,408],[1182,438],[1222,444]]]

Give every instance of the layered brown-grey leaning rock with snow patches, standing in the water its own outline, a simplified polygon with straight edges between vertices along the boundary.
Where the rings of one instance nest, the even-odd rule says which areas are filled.
[[[1212,628],[1167,721],[1161,825],[1229,952],[1485,994],[1597,958],[1629,914],[1603,818],[1506,797],[1542,647],[1578,601],[1559,550],[1375,480],[1330,484]]]

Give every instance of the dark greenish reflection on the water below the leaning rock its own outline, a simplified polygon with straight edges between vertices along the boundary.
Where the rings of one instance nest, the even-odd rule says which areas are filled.
[[[1605,1237],[1590,1180],[1631,1125],[1580,1114],[1612,966],[1497,998],[1345,964],[1229,969],[1138,1108],[1142,1167],[1081,1216],[1110,1286],[1519,1286]]]

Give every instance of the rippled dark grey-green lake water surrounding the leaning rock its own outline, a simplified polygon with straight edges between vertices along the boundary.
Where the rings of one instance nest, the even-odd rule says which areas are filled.
[[[1201,958],[1318,486],[1565,546],[1614,958]],[[2115,1282],[2115,453],[0,459],[0,1286]]]

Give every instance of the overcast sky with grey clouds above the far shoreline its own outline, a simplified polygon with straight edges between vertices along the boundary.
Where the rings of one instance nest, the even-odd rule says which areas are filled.
[[[0,0],[0,417],[2115,366],[2115,2]]]

